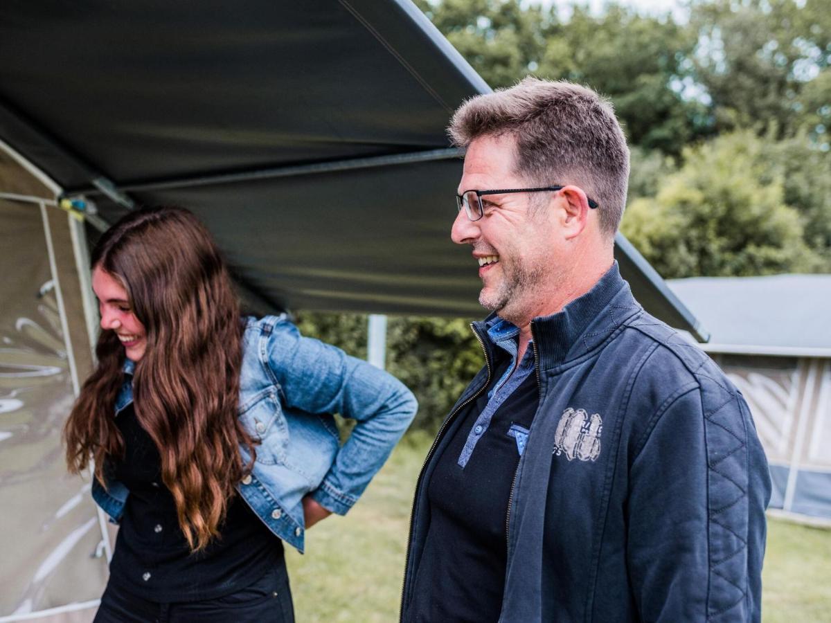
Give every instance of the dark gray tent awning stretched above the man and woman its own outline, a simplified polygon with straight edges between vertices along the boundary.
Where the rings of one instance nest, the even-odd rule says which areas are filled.
[[[101,226],[194,209],[263,309],[481,315],[444,128],[487,91],[409,0],[0,5],[0,139]],[[638,299],[697,333],[618,242]]]

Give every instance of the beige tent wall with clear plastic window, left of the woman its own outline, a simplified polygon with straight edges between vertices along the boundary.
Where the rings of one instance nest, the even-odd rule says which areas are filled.
[[[61,448],[92,354],[82,229],[53,198],[0,151],[0,621],[90,621],[107,576],[90,479]]]

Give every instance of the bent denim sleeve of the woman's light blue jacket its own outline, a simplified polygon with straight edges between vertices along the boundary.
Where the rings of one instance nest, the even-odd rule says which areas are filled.
[[[415,396],[394,376],[335,346],[301,336],[288,321],[274,327],[267,361],[288,407],[356,420],[312,493],[323,507],[347,513],[416,415]]]

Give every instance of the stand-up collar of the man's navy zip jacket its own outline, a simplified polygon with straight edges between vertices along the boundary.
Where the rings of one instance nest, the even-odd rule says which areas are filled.
[[[556,314],[531,321],[540,368],[548,370],[591,351],[641,309],[614,262],[582,297]],[[484,322],[475,323],[479,335],[494,326],[495,317],[491,314]],[[485,343],[490,346],[489,340]]]

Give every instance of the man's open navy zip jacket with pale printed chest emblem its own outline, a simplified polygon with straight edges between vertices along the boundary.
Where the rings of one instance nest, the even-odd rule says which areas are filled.
[[[481,335],[482,325],[475,323]],[[739,390],[698,347],[643,311],[613,266],[532,323],[540,402],[506,522],[501,623],[760,621],[770,475]],[[413,506],[402,596],[430,525]]]

